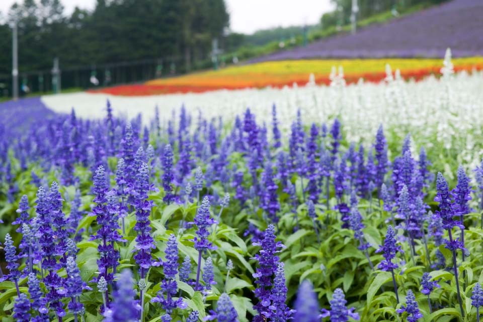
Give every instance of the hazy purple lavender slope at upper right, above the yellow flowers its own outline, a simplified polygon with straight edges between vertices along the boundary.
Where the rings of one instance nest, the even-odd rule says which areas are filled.
[[[453,0],[410,16],[340,34],[250,62],[304,58],[441,57],[483,55],[483,1]]]

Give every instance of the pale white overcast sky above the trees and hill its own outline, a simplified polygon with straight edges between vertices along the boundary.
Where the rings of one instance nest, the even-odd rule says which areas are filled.
[[[36,0],[40,2],[40,0]],[[138,0],[142,1],[142,0]],[[315,24],[320,16],[332,9],[330,0],[225,0],[230,13],[232,31],[253,33],[259,29],[277,26]],[[23,0],[0,0],[0,11],[5,17],[15,2]],[[96,0],[61,0],[65,13],[75,6],[92,10]]]

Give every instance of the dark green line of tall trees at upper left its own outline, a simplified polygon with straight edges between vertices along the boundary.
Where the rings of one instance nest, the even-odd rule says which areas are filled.
[[[10,74],[12,29],[19,30],[20,72],[166,58],[190,70],[209,61],[229,23],[223,0],[97,0],[93,12],[67,16],[61,0],[24,0],[2,13],[0,74]]]

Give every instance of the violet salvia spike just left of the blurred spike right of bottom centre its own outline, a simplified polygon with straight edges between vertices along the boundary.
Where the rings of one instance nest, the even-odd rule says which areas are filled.
[[[270,305],[270,317],[276,322],[286,322],[290,319],[292,313],[285,302],[287,301],[287,286],[285,286],[285,265],[278,263],[275,271],[275,278],[273,279],[272,295],[270,295],[272,305]]]

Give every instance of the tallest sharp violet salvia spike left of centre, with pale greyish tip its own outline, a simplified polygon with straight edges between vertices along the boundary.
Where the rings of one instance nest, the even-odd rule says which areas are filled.
[[[134,230],[137,231],[134,260],[139,265],[141,279],[144,279],[145,274],[151,266],[159,265],[151,257],[151,249],[156,248],[154,239],[150,233],[151,227],[149,221],[149,215],[154,203],[151,200],[147,200],[147,194],[152,189],[152,186],[149,185],[149,169],[147,164],[143,163],[136,174],[136,225],[134,226]]]

